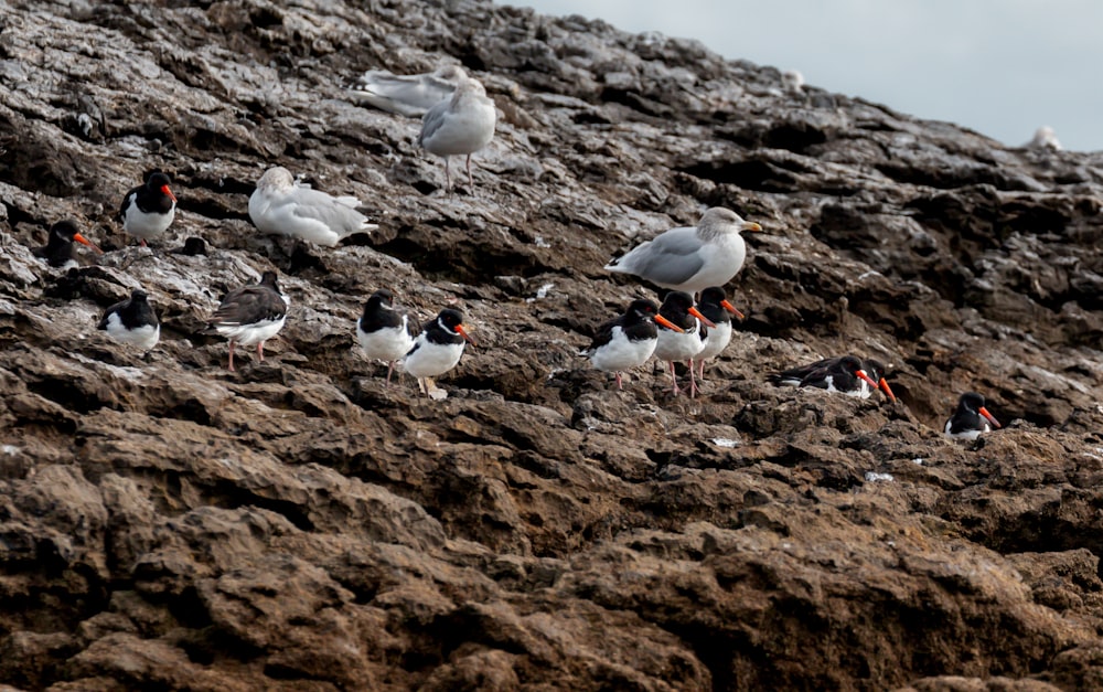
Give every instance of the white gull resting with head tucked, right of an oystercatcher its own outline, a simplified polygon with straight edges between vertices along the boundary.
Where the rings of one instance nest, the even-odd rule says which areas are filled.
[[[354,233],[379,226],[356,211],[360,200],[335,198],[299,184],[282,166],[265,171],[249,195],[249,219],[263,233],[287,235],[333,247]]]

